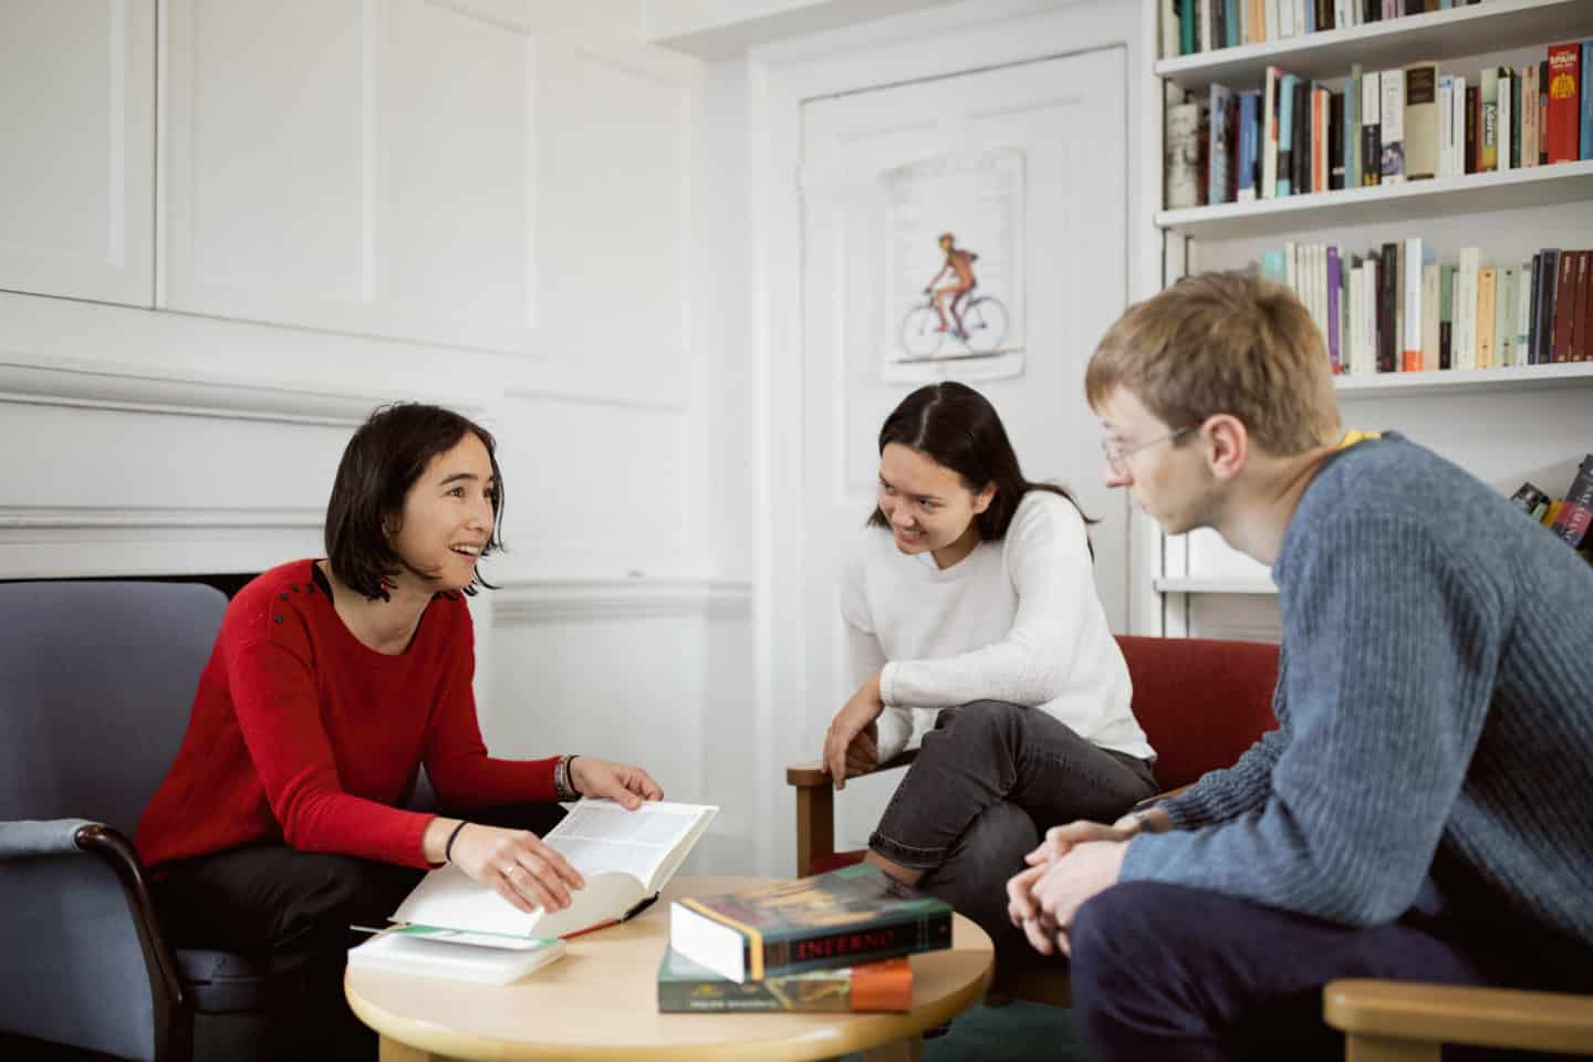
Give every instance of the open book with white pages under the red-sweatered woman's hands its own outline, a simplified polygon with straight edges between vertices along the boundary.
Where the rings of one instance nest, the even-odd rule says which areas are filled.
[[[623,922],[658,896],[717,810],[647,801],[628,812],[613,801],[583,799],[542,837],[586,879],[585,888],[570,890],[564,911],[516,911],[457,866],[443,866],[421,879],[392,920],[523,938],[572,936]]]

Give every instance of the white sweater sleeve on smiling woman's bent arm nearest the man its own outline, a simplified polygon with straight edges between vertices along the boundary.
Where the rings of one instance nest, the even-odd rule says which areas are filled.
[[[956,656],[890,661],[879,680],[886,704],[1039,705],[1063,696],[1086,610],[1101,610],[1083,517],[1066,498],[1031,492],[1007,529],[1005,559],[1018,592],[1007,637]]]

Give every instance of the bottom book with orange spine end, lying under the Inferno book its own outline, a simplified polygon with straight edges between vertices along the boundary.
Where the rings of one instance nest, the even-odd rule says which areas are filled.
[[[841,1013],[913,1009],[913,963],[906,957],[789,973],[738,984],[672,947],[658,963],[661,1014]]]

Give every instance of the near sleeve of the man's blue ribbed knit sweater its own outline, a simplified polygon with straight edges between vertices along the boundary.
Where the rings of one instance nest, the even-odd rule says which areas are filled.
[[[1252,750],[1276,755],[1266,801],[1203,830],[1134,837],[1121,877],[1386,922],[1416,898],[1459,798],[1505,610],[1405,514],[1316,519],[1301,554],[1274,567],[1290,732]]]

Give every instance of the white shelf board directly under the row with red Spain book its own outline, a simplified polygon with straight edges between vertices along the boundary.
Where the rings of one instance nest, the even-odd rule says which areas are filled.
[[[1593,0],[1583,3],[1593,11]],[[1160,210],[1157,226],[1198,239],[1233,239],[1588,201],[1593,201],[1593,159],[1582,159],[1504,174],[1464,174],[1282,199]]]

